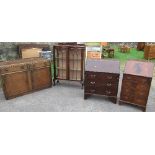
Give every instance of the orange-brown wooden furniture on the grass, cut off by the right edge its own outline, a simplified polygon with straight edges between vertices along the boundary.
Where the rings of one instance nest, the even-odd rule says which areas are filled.
[[[155,44],[145,45],[144,58],[145,59],[155,58]]]

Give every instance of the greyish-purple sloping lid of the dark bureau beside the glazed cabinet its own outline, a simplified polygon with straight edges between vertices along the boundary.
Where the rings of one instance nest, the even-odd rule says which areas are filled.
[[[115,60],[86,60],[85,70],[91,72],[120,73],[119,61]]]

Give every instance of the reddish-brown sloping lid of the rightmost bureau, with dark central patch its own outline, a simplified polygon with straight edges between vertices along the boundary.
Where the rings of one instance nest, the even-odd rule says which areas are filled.
[[[124,73],[137,76],[152,77],[153,69],[154,64],[151,62],[129,60],[126,63]]]

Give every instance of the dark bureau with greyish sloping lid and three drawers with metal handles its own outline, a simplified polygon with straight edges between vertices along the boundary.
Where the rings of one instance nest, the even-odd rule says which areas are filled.
[[[87,60],[85,64],[84,99],[97,94],[116,103],[119,83],[119,61]]]

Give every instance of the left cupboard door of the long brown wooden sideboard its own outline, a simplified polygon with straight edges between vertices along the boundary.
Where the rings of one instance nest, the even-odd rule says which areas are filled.
[[[6,99],[20,96],[31,91],[29,78],[27,71],[12,73],[9,74],[9,76],[2,75],[3,90]]]

